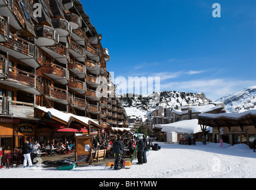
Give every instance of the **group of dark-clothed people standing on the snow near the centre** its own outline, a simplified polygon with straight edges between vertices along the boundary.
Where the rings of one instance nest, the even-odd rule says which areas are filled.
[[[129,144],[129,147],[132,146],[138,146],[137,149],[137,157],[138,157],[138,162],[137,164],[143,164],[143,163],[147,163],[147,156],[146,156],[146,152],[147,152],[147,139],[146,136],[143,135],[143,139],[137,137],[136,139],[136,144]],[[125,143],[126,144],[126,143]],[[121,139],[120,136],[118,136],[117,140],[113,143],[113,148],[112,148],[112,152],[114,154],[115,157],[115,166],[114,169],[115,170],[119,170],[121,169],[121,160],[122,160],[122,156],[124,153],[124,147],[125,144],[123,142],[123,140]]]

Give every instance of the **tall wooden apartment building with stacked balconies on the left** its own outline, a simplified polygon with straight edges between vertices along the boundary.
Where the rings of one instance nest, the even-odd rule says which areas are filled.
[[[78,0],[0,0],[0,147],[128,127],[101,39]],[[67,122],[54,110],[97,124],[79,117]]]

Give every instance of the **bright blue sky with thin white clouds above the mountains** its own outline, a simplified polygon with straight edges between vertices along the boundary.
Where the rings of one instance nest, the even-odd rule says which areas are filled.
[[[115,78],[160,77],[160,90],[212,100],[256,84],[255,0],[80,1]]]

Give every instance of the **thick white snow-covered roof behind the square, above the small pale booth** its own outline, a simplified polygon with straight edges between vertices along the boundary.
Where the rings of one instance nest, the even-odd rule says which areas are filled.
[[[162,128],[162,132],[186,132],[192,134],[202,132],[201,126],[198,125],[198,119],[188,119],[172,124],[158,124],[155,127]],[[211,128],[208,127],[206,130],[211,131]]]

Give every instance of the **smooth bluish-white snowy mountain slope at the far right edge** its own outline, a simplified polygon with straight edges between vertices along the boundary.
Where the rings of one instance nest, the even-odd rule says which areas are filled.
[[[223,96],[216,102],[223,102],[225,109],[230,113],[242,113],[256,109],[256,85]]]

